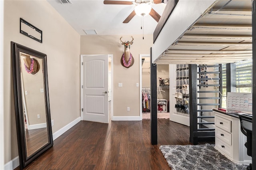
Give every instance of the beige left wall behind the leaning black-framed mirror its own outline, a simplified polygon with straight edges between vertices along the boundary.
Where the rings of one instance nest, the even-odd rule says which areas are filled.
[[[43,43],[20,34],[20,17],[43,31]],[[80,117],[80,35],[45,0],[4,1],[4,157],[18,156],[10,42],[47,54],[52,132]]]

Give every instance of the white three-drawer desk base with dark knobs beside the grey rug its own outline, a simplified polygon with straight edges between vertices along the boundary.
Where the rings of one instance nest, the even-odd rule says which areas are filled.
[[[233,162],[251,163],[252,157],[247,155],[247,148],[244,146],[247,139],[240,130],[239,117],[213,112],[215,113],[214,148]]]

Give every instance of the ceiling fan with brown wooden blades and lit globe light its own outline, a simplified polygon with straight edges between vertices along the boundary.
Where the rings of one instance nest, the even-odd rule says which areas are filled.
[[[104,0],[104,4],[112,5],[135,5],[135,9],[132,13],[124,20],[123,23],[128,23],[137,14],[139,16],[146,16],[149,14],[156,20],[159,21],[160,15],[150,6],[150,4],[160,4],[164,0],[134,0],[132,1],[121,1],[121,0]]]

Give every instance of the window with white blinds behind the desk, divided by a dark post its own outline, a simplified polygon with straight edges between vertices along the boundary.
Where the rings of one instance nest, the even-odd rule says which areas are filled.
[[[226,108],[226,64],[222,64],[222,107]],[[252,59],[236,62],[236,92],[252,93]]]

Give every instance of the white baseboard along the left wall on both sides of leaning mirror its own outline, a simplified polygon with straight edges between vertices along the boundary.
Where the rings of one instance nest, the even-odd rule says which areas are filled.
[[[57,132],[55,132],[54,134],[52,134],[52,138],[53,140],[55,140],[56,138],[58,138],[60,135],[62,135],[63,133],[65,133],[68,129],[72,128],[74,125],[76,125],[78,122],[80,122],[80,117],[76,118],[74,121],[70,122],[68,125],[64,126],[63,128],[61,128],[60,130],[58,130]],[[19,161],[19,156],[17,156],[16,158],[10,160],[8,163],[6,163],[4,165],[4,170],[14,170],[15,168],[17,168],[20,165],[20,161]]]

